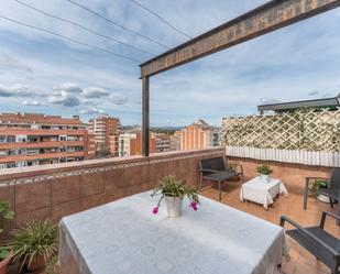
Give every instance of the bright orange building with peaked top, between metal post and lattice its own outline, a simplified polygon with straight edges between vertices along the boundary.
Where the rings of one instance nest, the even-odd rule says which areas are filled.
[[[201,119],[177,134],[180,136],[180,150],[200,150],[217,146],[219,143],[219,130]]]

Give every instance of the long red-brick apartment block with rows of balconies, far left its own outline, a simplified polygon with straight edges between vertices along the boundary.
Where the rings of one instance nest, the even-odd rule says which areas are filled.
[[[79,117],[0,114],[0,168],[92,158],[94,147],[94,136]]]

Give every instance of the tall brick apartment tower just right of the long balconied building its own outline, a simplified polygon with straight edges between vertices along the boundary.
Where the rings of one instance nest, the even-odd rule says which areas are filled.
[[[90,119],[88,131],[95,135],[97,153],[119,155],[120,120],[109,116],[100,116]]]

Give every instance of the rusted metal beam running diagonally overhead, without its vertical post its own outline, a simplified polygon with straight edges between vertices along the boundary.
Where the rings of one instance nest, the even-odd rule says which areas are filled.
[[[340,0],[272,0],[141,64],[141,78],[160,74],[339,6]]]

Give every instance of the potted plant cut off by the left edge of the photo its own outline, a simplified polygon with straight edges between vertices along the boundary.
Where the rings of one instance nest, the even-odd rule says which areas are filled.
[[[0,200],[0,233],[3,232],[3,221],[14,217],[14,212],[10,209],[10,202]],[[0,244],[0,274],[6,274],[10,263],[10,249]]]

